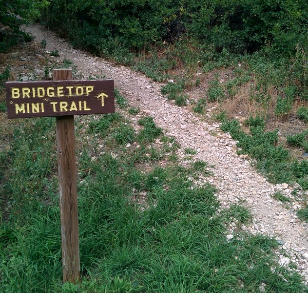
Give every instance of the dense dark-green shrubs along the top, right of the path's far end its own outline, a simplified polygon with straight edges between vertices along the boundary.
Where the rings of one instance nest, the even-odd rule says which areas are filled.
[[[289,55],[297,43],[307,43],[308,2],[54,0],[44,21],[80,47],[103,55],[175,42],[187,33],[216,51],[264,47]]]

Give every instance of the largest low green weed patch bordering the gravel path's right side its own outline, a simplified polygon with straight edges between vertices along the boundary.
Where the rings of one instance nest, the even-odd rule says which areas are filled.
[[[245,133],[235,119],[223,121],[221,129],[229,132],[237,146],[239,153],[249,154],[255,160],[254,165],[264,173],[271,182],[297,182],[303,189],[308,188],[308,163],[293,159],[289,150],[279,146],[277,130],[264,131],[264,122],[256,117],[245,121],[250,126],[250,134]],[[291,141],[291,137],[289,137]],[[297,141],[292,137],[292,142]]]

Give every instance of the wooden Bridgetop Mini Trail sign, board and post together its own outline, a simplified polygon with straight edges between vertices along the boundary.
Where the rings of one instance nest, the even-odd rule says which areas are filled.
[[[56,116],[63,282],[80,280],[74,116],[115,112],[114,81],[72,81],[72,69],[53,70],[53,82],[5,84],[8,118]]]

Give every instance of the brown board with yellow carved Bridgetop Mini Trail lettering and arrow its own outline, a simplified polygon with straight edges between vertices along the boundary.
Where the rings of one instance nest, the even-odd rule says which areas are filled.
[[[113,80],[5,83],[8,118],[115,112]]]

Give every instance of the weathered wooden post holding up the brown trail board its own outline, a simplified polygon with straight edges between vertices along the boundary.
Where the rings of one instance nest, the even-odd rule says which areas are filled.
[[[53,75],[55,81],[72,80],[72,69],[54,69]],[[74,116],[56,120],[63,283],[76,283],[80,280],[80,259]]]

